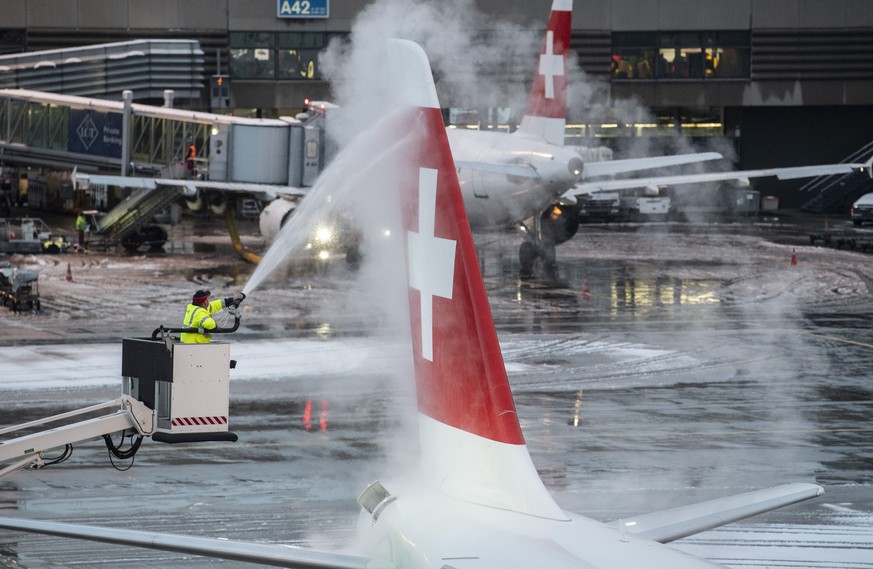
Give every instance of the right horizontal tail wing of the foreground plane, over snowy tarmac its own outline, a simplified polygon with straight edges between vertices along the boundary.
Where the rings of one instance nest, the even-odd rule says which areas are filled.
[[[785,484],[618,520],[612,525],[626,533],[668,543],[822,494],[824,489],[816,484]]]

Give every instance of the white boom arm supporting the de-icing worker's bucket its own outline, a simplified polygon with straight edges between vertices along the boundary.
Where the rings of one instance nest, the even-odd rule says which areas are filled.
[[[118,399],[100,405],[0,429],[0,435],[74,419],[113,407],[117,408],[116,411],[108,415],[84,419],[0,442],[0,465],[12,461],[11,464],[0,469],[0,478],[20,468],[41,466],[43,456],[52,449],[63,448],[76,442],[97,439],[113,433],[135,431],[141,436],[148,436],[154,432],[154,411],[141,401],[128,395],[122,395]]]

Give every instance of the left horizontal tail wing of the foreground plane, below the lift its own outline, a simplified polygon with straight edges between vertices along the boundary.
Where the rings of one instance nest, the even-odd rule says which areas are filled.
[[[374,560],[369,557],[344,553],[315,551],[289,545],[14,518],[0,518],[0,528],[292,569],[395,569],[393,563],[384,560]]]

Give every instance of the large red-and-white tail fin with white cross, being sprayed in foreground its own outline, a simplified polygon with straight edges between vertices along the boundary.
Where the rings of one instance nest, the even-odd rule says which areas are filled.
[[[389,57],[419,112],[401,203],[424,476],[453,498],[566,519],[524,443],[427,56],[393,40]]]

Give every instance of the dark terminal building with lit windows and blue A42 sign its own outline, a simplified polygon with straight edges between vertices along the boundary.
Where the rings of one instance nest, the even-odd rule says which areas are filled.
[[[17,67],[2,61],[96,44],[184,40],[196,42],[196,57],[180,56],[176,65],[189,65],[191,72],[168,71],[172,77],[163,78],[163,85],[174,87],[177,108],[269,120],[294,116],[306,99],[332,98],[319,52],[347,38],[356,19],[381,4],[0,0],[0,87],[82,94],[66,90],[82,77],[58,80],[67,65],[77,73],[78,58],[50,68],[40,68],[39,61],[21,60]],[[476,28],[469,30],[474,44],[487,46],[511,26],[533,29],[531,37],[540,38],[551,2],[457,4],[470,15],[466,25]],[[498,21],[509,27],[493,24]],[[735,150],[742,169],[863,161],[873,152],[873,11],[864,0],[575,0],[571,47],[591,87],[585,98],[571,92],[569,144],[596,139],[619,153],[641,138],[682,136],[699,146],[721,140]],[[510,55],[505,67],[484,72],[488,81],[504,84],[496,91],[505,99],[441,92],[448,121],[512,128],[522,110],[519,93],[533,77],[523,70],[535,68],[536,54],[519,49]],[[162,57],[149,54],[149,69],[141,72],[169,69]],[[103,81],[104,92],[89,96],[120,101],[122,90],[130,89],[138,103],[165,103],[163,90],[155,88],[160,82],[138,81],[136,73],[131,68]],[[628,101],[646,112],[628,112]],[[756,182],[785,207],[802,205],[800,185]]]

